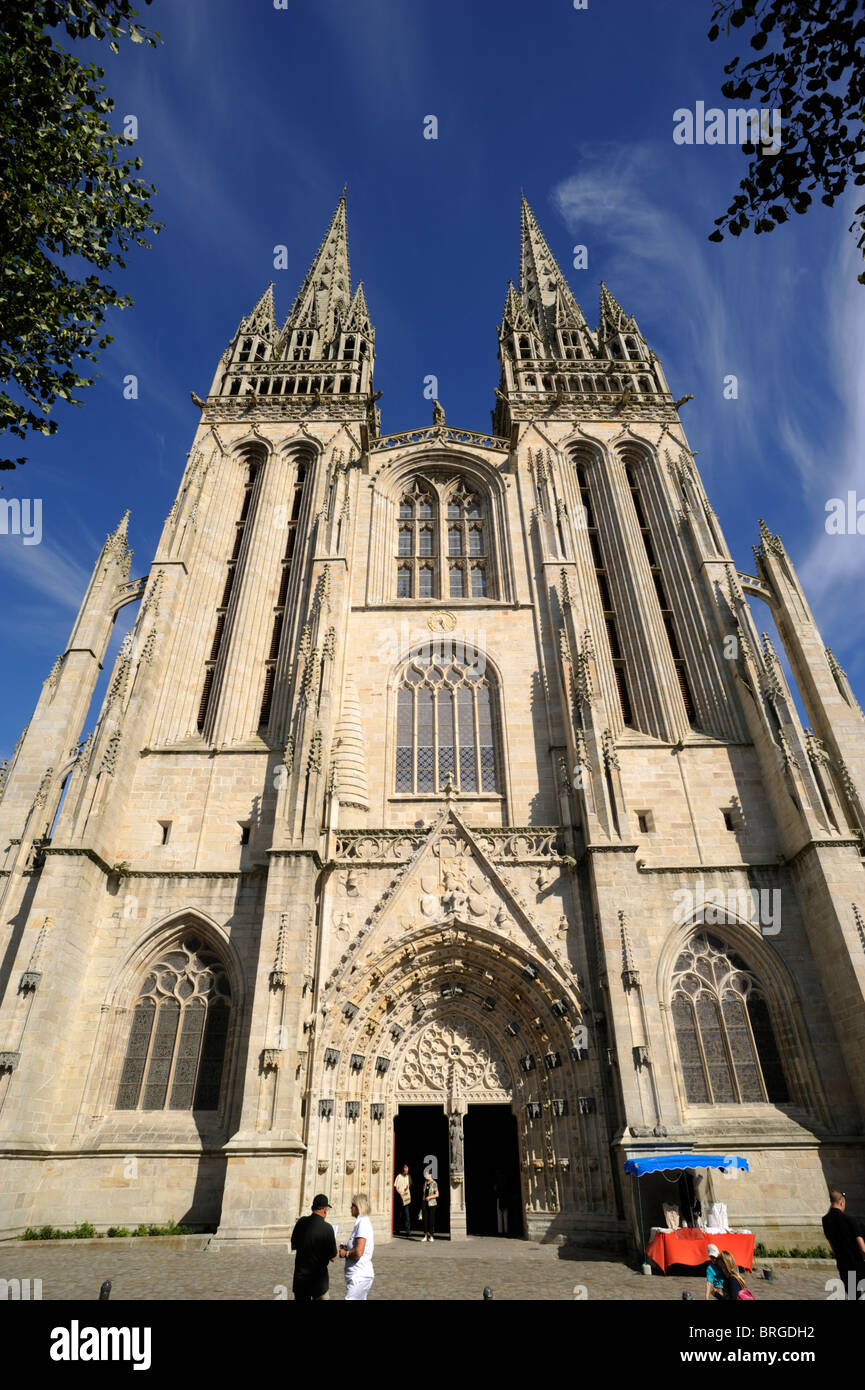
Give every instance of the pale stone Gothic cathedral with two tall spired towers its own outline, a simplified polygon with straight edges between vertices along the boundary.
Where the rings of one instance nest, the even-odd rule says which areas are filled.
[[[865,1211],[862,712],[527,203],[498,339],[490,434],[381,434],[343,196],[193,396],[147,573],[106,541],[0,802],[4,1234],[364,1191],[385,1236],[403,1162],[452,1238]],[[624,1176],[681,1151],[748,1172]]]

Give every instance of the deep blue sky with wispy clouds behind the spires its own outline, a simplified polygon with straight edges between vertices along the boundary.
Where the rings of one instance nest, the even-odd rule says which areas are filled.
[[[377,328],[382,430],[490,430],[520,189],[590,322],[605,279],[659,353],[738,566],[758,516],[782,534],[823,638],[865,703],[865,538],[829,537],[826,502],[865,495],[865,288],[857,199],[770,236],[711,245],[745,168],[736,147],[673,143],[673,111],[729,103],[711,0],[156,0],[157,50],[83,47],[118,125],[139,122],[165,229],[114,277],[134,307],[81,410],[28,443],[4,498],[40,498],[43,539],[0,535],[0,758],[63,651],[104,535],[129,507],[147,570],[220,353],[270,279],[291,309],[348,183],[352,277]],[[438,139],[423,138],[424,117]],[[854,190],[855,192],[855,190]],[[572,267],[588,247],[588,268]],[[274,246],[289,267],[274,270]],[[139,379],[138,400],[122,381]],[[723,399],[736,374],[738,399]],[[17,452],[17,450],[15,450]],[[113,649],[129,626],[118,620]],[[758,626],[765,626],[755,606]]]

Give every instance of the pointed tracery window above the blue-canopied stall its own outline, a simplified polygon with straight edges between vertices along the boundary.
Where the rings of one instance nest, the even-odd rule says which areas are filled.
[[[690,1105],[790,1099],[763,994],[723,941],[700,935],[687,944],[672,994]]]

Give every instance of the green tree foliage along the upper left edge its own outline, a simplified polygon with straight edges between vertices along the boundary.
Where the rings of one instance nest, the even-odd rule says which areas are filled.
[[[150,4],[150,0],[145,0]],[[54,434],[56,400],[79,404],[83,363],[111,342],[106,310],[131,300],[99,272],[160,231],[132,139],[110,124],[104,70],[72,40],[154,46],[129,0],[10,0],[0,21],[0,432]],[[86,272],[88,265],[93,267]],[[0,468],[25,463],[0,459]]]

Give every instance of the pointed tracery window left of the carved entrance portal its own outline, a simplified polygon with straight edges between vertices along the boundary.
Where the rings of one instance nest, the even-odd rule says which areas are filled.
[[[132,1013],[118,1111],[216,1111],[231,987],[223,962],[184,933],[147,972]]]

